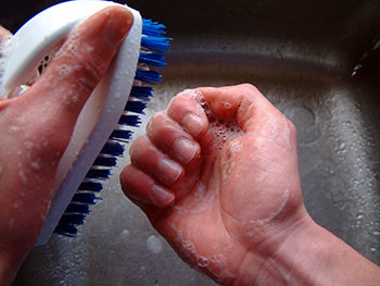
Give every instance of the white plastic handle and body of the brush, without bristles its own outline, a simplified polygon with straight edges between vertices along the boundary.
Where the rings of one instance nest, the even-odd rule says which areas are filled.
[[[69,1],[51,7],[29,20],[13,37],[5,62],[3,90],[24,84],[41,59],[78,24],[96,12],[121,5],[107,1]],[[126,9],[126,5],[121,5]],[[105,77],[100,82],[79,114],[72,140],[60,161],[54,189],[58,191],[36,245],[46,244],[91,167],[94,159],[117,126],[134,83],[142,32],[140,13],[122,43]],[[52,95],[53,96],[53,95]]]

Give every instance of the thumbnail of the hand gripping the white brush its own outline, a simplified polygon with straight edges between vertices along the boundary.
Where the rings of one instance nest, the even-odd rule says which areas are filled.
[[[104,36],[112,45],[118,45],[129,32],[134,16],[128,9],[118,8],[109,16]]]

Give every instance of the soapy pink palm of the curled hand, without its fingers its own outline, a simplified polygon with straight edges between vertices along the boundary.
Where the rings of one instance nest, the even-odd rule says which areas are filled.
[[[218,138],[223,128],[210,128],[200,139],[200,160],[173,187],[179,199],[152,217],[185,259],[218,279],[236,274],[233,269],[226,272],[227,261],[242,260],[246,249],[268,240],[267,224],[284,211],[290,190],[299,188],[289,179],[296,165],[280,161],[288,150],[280,152],[268,138],[252,133],[229,132],[230,140],[224,142]],[[301,192],[292,196],[301,201]]]

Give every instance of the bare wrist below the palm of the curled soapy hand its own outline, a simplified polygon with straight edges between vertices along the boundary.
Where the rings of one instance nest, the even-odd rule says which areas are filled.
[[[303,212],[276,226],[270,251],[250,251],[232,285],[380,285],[380,269]]]

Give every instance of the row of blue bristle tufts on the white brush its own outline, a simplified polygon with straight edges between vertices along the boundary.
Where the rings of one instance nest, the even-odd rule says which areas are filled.
[[[142,20],[141,51],[139,63],[154,67],[165,67],[165,52],[169,49],[170,38],[165,37],[165,26],[153,22],[152,20]],[[143,110],[150,98],[153,96],[153,88],[148,85],[155,85],[162,82],[162,75],[157,71],[137,70],[135,79],[141,82],[141,86],[132,86],[129,100],[125,107],[126,112],[143,114]],[[147,85],[148,84],[148,85]],[[138,127],[141,124],[139,115],[123,114],[118,121],[122,126]],[[123,146],[118,142],[125,142],[132,136],[131,130],[115,129],[96,159],[92,167],[88,171],[85,181],[80,184],[72,202],[68,204],[60,223],[55,227],[55,233],[75,237],[77,226],[85,223],[86,214],[90,212],[89,206],[94,204],[98,198],[94,194],[102,190],[102,183],[110,177],[111,167],[116,165],[116,157],[124,153]],[[99,167],[102,166],[102,167]],[[99,182],[100,181],[100,182]]]

